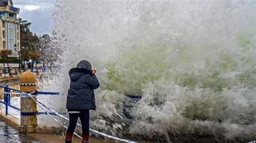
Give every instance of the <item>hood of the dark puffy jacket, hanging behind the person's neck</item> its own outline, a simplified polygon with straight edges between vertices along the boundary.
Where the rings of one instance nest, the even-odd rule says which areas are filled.
[[[71,81],[77,81],[78,78],[84,74],[91,74],[91,70],[85,68],[72,68],[69,70],[69,76]]]

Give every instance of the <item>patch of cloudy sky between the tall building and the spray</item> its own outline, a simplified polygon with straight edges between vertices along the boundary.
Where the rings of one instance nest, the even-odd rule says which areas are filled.
[[[20,9],[18,17],[32,23],[30,31],[51,34],[51,6],[55,0],[13,0],[14,6]]]

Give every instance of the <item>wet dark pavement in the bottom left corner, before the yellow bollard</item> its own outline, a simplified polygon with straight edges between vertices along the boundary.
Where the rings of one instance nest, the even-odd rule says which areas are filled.
[[[0,120],[0,142],[44,142],[26,134]]]

